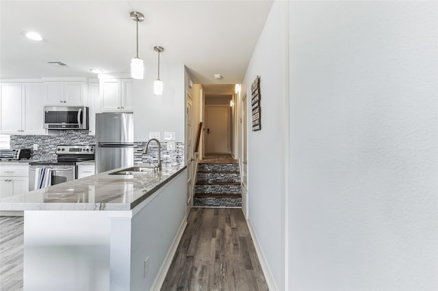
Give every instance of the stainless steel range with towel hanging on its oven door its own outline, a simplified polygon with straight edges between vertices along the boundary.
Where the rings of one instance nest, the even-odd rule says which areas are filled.
[[[56,161],[29,163],[29,191],[75,180],[76,163],[94,160],[94,146],[59,145],[56,157]]]

